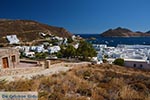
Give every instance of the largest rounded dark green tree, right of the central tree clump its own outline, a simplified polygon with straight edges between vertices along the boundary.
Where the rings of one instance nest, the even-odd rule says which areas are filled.
[[[77,55],[81,57],[82,60],[89,60],[89,57],[94,57],[97,53],[92,44],[86,41],[81,41],[77,49]]]

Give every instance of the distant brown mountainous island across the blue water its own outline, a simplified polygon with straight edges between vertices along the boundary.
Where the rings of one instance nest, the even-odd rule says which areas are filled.
[[[103,37],[149,37],[150,31],[148,32],[133,32],[127,28],[118,27],[116,29],[109,29],[100,34]]]

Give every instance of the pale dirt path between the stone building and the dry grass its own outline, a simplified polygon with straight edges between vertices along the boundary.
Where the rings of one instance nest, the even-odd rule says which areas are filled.
[[[72,66],[69,66],[69,64],[72,64]],[[54,64],[48,69],[43,69],[38,72],[29,73],[29,74],[19,74],[19,75],[9,75],[9,76],[1,76],[0,80],[7,80],[7,81],[16,81],[19,79],[32,79],[36,76],[48,76],[52,74],[57,74],[59,72],[66,72],[69,69],[72,69],[77,66],[87,65],[90,64],[89,62],[80,62],[80,63],[65,63],[65,64]],[[24,65],[23,65],[24,66]],[[32,66],[32,65],[31,65]]]

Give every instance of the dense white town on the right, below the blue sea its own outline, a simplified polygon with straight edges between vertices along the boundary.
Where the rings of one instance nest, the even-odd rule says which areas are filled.
[[[97,50],[97,63],[107,61],[112,64],[115,59],[122,58],[125,67],[150,70],[149,45],[118,45],[108,47],[105,44],[93,44]]]

